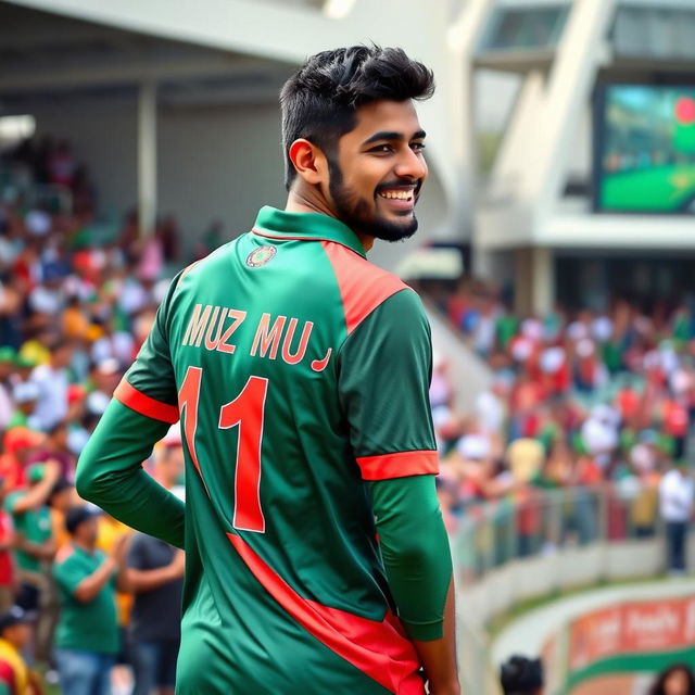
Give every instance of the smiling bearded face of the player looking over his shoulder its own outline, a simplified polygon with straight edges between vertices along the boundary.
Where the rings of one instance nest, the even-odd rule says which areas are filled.
[[[410,101],[378,101],[357,110],[357,124],[327,154],[328,201],[357,232],[400,241],[417,229],[415,204],[427,177],[425,131]]]

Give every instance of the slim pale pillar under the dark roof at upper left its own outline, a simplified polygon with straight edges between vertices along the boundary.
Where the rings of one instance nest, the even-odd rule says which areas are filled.
[[[156,223],[156,85],[142,83],[138,94],[138,222],[140,236]]]

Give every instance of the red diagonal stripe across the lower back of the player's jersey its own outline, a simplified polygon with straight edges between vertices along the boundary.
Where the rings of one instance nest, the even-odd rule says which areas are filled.
[[[309,634],[389,692],[425,695],[417,653],[393,614],[379,622],[304,598],[239,535],[227,535],[263,587]]]

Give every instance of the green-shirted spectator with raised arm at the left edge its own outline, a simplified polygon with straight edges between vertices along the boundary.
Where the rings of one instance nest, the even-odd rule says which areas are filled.
[[[15,560],[21,581],[16,603],[25,610],[38,609],[47,584],[45,565],[55,555],[47,501],[59,476],[55,462],[35,464],[27,470],[27,488],[11,493],[5,500],[15,530]]]

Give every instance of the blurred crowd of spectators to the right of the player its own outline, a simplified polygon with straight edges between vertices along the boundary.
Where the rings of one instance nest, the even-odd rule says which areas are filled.
[[[511,500],[520,555],[563,540],[589,541],[599,515],[596,497],[581,491],[603,490],[621,509],[608,506],[608,533],[650,535],[661,516],[669,567],[683,572],[693,513],[690,305],[645,312],[616,301],[605,312],[557,307],[520,316],[482,282],[426,294],[492,375],[489,388],[462,412],[456,389],[465,384],[455,383],[446,357],[434,354],[430,401],[450,529],[481,502]],[[540,494],[568,489],[574,494],[564,503],[565,538],[542,538]]]

